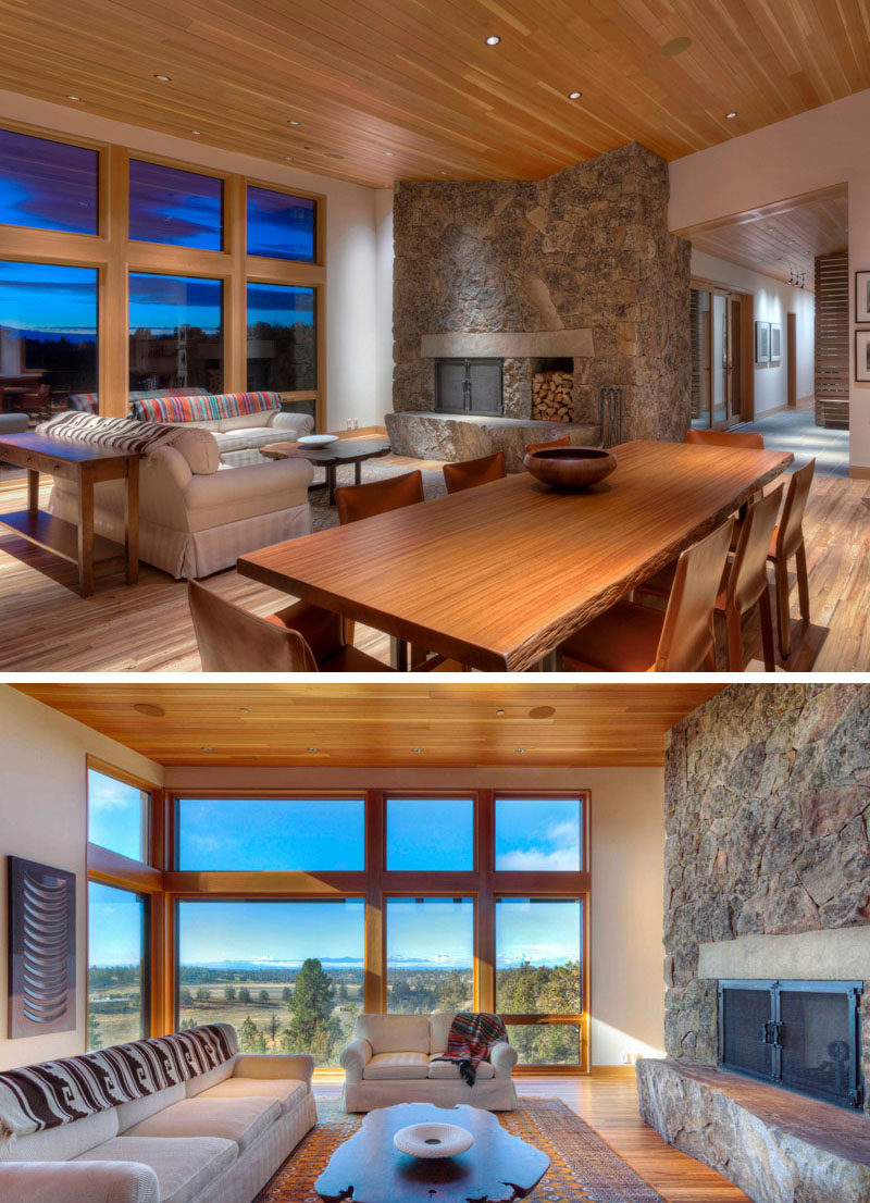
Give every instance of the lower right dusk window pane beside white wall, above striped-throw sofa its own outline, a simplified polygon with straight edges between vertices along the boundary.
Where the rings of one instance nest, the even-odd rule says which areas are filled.
[[[318,386],[316,289],[248,284],[248,389]]]

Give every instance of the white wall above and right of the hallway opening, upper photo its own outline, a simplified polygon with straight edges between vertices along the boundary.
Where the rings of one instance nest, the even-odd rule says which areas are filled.
[[[671,230],[804,192],[848,184],[851,377],[854,378],[854,273],[870,268],[870,90],[768,125],[670,165]],[[870,384],[852,379],[852,474],[870,475]]]

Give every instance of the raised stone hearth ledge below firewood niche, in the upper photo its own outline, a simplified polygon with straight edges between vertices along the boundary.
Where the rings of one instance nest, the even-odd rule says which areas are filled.
[[[387,414],[386,432],[396,455],[419,460],[477,460],[504,454],[508,472],[521,472],[527,443],[546,443],[567,434],[578,446],[597,446],[598,426],[584,422],[535,422],[474,414]]]

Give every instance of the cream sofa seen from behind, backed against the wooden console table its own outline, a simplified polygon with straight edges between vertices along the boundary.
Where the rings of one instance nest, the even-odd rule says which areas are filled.
[[[93,414],[60,414],[39,427],[53,438],[93,438],[102,445],[152,431],[150,423]],[[239,556],[310,534],[307,460],[265,460],[231,468],[220,462],[215,435],[193,425],[160,427],[165,439],[140,464],[140,558],[176,579],[232,568]],[[123,543],[124,482],[95,487],[94,528]],[[78,521],[73,482],[57,479],[49,512]]]

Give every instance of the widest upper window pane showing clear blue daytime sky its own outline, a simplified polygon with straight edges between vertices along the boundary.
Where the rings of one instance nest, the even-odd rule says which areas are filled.
[[[180,870],[362,870],[362,798],[179,798]]]

